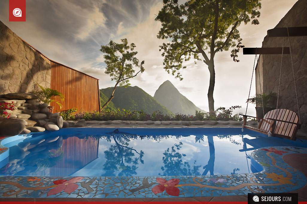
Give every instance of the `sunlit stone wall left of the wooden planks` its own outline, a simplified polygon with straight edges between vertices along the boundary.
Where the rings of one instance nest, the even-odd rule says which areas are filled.
[[[50,61],[0,21],[0,95],[31,91],[33,83],[50,88]]]

